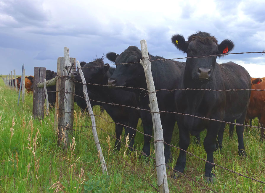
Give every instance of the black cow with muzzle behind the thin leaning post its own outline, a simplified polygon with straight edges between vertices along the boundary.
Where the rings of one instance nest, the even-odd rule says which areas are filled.
[[[102,85],[107,85],[108,79],[113,74],[114,70],[115,68],[110,68],[108,64],[104,64],[102,58],[91,61],[82,68],[86,83]],[[73,72],[73,75],[77,81],[81,81],[79,71]],[[110,88],[109,86],[87,85],[87,88],[97,96],[97,101],[137,107],[135,94],[132,92]],[[139,119],[136,109],[105,103],[102,103],[101,106],[107,111],[115,123],[120,123],[136,129]],[[115,124],[115,132],[118,139],[120,139],[123,130],[123,126],[120,124]],[[136,131],[129,127],[124,127],[125,135],[129,133],[129,147],[133,147]],[[115,141],[117,150],[121,147],[118,139]]]

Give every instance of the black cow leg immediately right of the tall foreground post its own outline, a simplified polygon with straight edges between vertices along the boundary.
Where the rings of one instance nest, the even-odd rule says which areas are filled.
[[[173,130],[174,130],[174,126],[176,123],[176,118],[174,114],[164,114],[164,116],[162,115],[162,128],[163,128],[163,138],[164,141],[167,144],[171,143],[171,138],[172,138],[172,134],[173,134]],[[170,145],[165,144],[165,149],[164,149],[164,153],[165,153],[165,163],[170,163],[171,162],[171,151],[170,151]]]

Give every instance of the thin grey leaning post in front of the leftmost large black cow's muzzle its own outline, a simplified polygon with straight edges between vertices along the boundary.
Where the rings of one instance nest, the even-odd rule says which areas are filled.
[[[102,166],[102,173],[105,174],[105,172],[106,172],[108,174],[107,166],[106,166],[106,163],[105,163],[105,159],[104,159],[104,156],[103,156],[103,153],[102,153],[102,149],[101,149],[101,146],[100,146],[100,143],[99,143],[99,138],[97,136],[96,120],[95,120],[94,113],[93,113],[93,110],[92,110],[92,107],[91,107],[91,104],[90,104],[90,101],[89,101],[89,97],[88,97],[88,94],[87,94],[86,80],[85,80],[85,77],[84,77],[84,74],[83,74],[83,71],[81,69],[79,61],[76,61],[76,63],[77,63],[77,68],[78,68],[78,71],[79,71],[79,74],[80,74],[80,77],[81,77],[82,83],[83,83],[83,93],[84,93],[84,96],[85,96],[85,99],[86,99],[86,106],[87,106],[87,109],[88,109],[88,112],[89,112],[89,115],[90,115],[90,118],[91,118],[91,122],[92,122],[92,132],[93,132],[95,144],[96,144],[96,147],[97,147],[97,151],[99,152],[99,158],[100,158],[100,162],[101,162],[101,166]]]

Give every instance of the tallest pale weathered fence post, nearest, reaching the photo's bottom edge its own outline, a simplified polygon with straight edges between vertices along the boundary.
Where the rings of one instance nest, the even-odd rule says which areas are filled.
[[[140,60],[140,63],[144,67],[144,74],[146,77],[146,83],[148,88],[149,96],[149,107],[152,115],[153,121],[153,130],[155,137],[155,162],[157,169],[157,183],[159,187],[159,192],[169,192],[168,190],[168,180],[166,175],[166,164],[165,164],[165,155],[164,155],[164,138],[163,138],[163,129],[160,120],[160,114],[158,109],[158,103],[155,93],[155,85],[152,77],[151,71],[151,62],[148,57],[147,44],[143,39],[141,40],[141,50],[143,59]]]

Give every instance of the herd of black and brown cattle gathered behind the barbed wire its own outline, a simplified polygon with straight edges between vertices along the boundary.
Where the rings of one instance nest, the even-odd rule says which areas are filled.
[[[180,34],[172,36],[171,40],[177,49],[186,53],[187,57],[193,58],[187,58],[186,62],[179,62],[159,60],[163,58],[149,54],[155,89],[175,90],[156,92],[159,110],[175,112],[160,113],[164,141],[167,144],[171,143],[173,129],[177,123],[179,147],[187,150],[190,143],[190,134],[196,135],[196,138],[199,139],[200,132],[207,129],[203,145],[207,154],[207,161],[213,163],[214,151],[222,148],[225,123],[221,121],[233,123],[236,121],[238,124],[244,124],[245,120],[258,117],[261,127],[265,126],[265,91],[251,92],[248,90],[251,88],[264,89],[265,79],[251,78],[242,66],[231,61],[223,64],[216,63],[217,56],[210,55],[229,53],[234,48],[234,43],[231,40],[225,39],[218,44],[215,37],[201,31],[190,35],[187,41]],[[147,89],[147,84],[143,67],[140,64],[140,59],[142,59],[141,50],[135,46],[129,46],[120,54],[110,52],[107,53],[106,57],[117,64],[116,68],[104,64],[102,58],[97,58],[89,63],[81,62],[86,83],[109,85],[87,85],[91,105],[100,105],[113,121],[118,123],[115,125],[117,138],[115,147],[117,150],[121,147],[118,139],[121,138],[123,128],[125,135],[129,135],[129,146],[133,147],[136,135],[135,129],[139,118],[141,118],[144,134],[146,134],[144,135],[142,151],[149,156],[153,124],[150,108],[148,107],[148,94],[144,90]],[[49,80],[47,78],[48,74],[46,72],[46,80]],[[78,71],[73,72],[73,75],[76,79],[75,92],[76,95],[80,96],[75,97],[75,102],[82,110],[86,110],[81,77]],[[56,76],[56,73],[51,72],[49,76],[51,76],[51,79]],[[228,89],[247,90],[224,91]],[[55,92],[51,93],[54,96],[49,96],[49,102],[54,104]],[[111,105],[111,103],[120,105]],[[142,110],[127,106],[139,107]],[[234,125],[230,125],[231,133],[233,129]],[[240,156],[246,156],[243,132],[244,126],[236,125],[238,154]],[[261,129],[261,138],[265,138],[264,129]],[[165,144],[164,151],[166,163],[172,159],[170,146],[167,144]],[[174,168],[176,171],[172,177],[178,178],[184,172],[185,165],[186,152],[180,151]],[[212,164],[205,164],[205,179],[208,183],[213,182],[215,178],[215,175],[211,173],[213,167]]]

